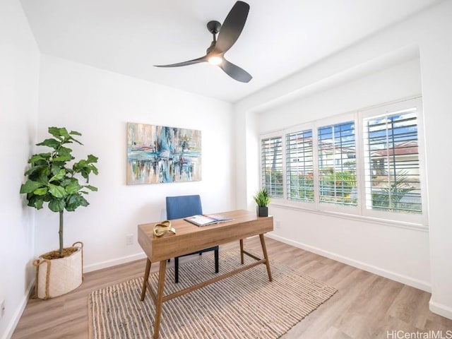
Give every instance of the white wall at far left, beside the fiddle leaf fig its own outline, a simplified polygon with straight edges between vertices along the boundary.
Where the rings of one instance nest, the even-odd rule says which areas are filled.
[[[34,278],[33,212],[19,188],[35,143],[39,58],[19,1],[0,1],[0,338],[11,335]]]

